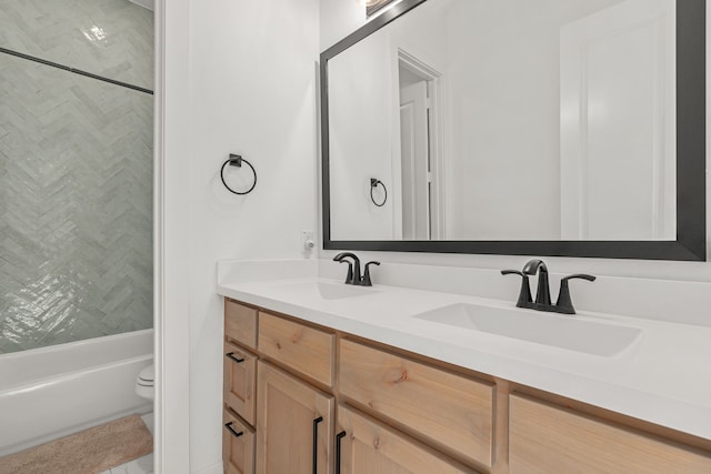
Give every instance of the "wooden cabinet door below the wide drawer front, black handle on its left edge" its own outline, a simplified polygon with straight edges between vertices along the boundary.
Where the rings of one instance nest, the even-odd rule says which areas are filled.
[[[365,415],[338,407],[336,474],[474,473]]]

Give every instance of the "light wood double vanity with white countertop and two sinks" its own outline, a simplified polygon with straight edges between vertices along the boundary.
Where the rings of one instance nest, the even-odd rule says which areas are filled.
[[[711,472],[711,329],[339,270],[219,263],[226,472]]]

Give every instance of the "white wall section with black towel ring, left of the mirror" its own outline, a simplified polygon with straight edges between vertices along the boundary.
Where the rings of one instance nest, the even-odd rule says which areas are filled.
[[[221,460],[220,259],[301,256],[316,226],[316,0],[200,0],[190,11],[190,471]],[[241,153],[252,193],[227,192],[219,170]],[[248,172],[244,170],[244,172]],[[220,471],[221,472],[221,471]]]

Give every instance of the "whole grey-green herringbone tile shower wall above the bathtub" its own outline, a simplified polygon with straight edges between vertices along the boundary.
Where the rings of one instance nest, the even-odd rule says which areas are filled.
[[[128,0],[0,0],[0,47],[152,89]],[[152,107],[0,53],[0,353],[152,326]]]

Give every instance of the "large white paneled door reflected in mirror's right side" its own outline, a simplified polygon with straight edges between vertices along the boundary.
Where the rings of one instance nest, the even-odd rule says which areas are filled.
[[[561,28],[563,240],[675,236],[674,3]]]

